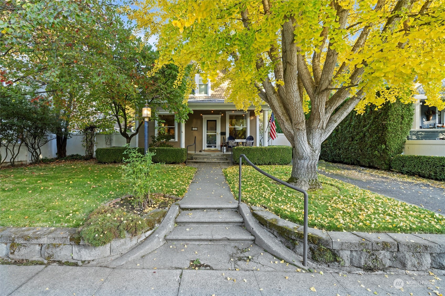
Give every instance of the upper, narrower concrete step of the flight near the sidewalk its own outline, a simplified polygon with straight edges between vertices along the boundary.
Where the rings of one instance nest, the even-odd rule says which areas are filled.
[[[182,210],[176,218],[178,225],[243,225],[243,217],[236,211]]]

